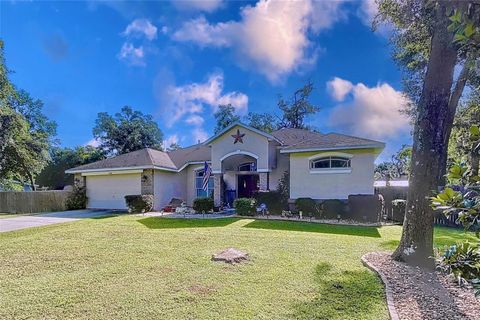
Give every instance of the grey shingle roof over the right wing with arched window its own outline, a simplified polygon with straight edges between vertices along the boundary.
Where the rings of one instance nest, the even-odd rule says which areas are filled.
[[[383,148],[383,142],[348,136],[339,133],[319,133],[303,129],[284,128],[272,132],[282,142],[281,150],[292,152],[305,149],[341,149],[341,148]]]

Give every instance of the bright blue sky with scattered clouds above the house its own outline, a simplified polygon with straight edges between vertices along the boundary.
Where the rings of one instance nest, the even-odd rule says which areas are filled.
[[[45,103],[62,146],[91,143],[98,112],[130,105],[165,139],[188,146],[213,133],[213,112],[276,112],[308,80],[321,111],[309,124],[410,143],[399,113],[401,74],[388,32],[373,33],[372,0],[1,2],[12,81]]]

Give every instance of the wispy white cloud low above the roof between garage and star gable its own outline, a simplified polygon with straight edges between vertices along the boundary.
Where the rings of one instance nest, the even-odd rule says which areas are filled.
[[[213,73],[206,82],[191,83],[184,86],[168,85],[164,91],[164,114],[168,115],[167,126],[186,115],[195,115],[210,107],[212,113],[221,104],[231,104],[238,114],[246,114],[248,96],[237,91],[223,92],[223,74]],[[187,119],[188,120],[188,119]],[[190,121],[192,121],[190,119]],[[196,119],[198,122],[198,119]],[[190,124],[194,124],[193,122]]]

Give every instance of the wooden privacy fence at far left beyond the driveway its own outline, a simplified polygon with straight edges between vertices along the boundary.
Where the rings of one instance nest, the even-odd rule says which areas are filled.
[[[66,210],[70,191],[0,192],[0,212],[35,213]]]

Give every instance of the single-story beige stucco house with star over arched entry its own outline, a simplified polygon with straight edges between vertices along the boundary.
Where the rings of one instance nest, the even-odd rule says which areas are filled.
[[[378,141],[302,129],[272,133],[236,122],[207,141],[175,151],[142,149],[69,169],[85,185],[89,208],[124,209],[125,195],[153,194],[160,210],[171,198],[191,205],[213,196],[215,205],[275,190],[290,173],[290,198],[347,199],[373,194]],[[212,169],[202,189],[204,163]]]

